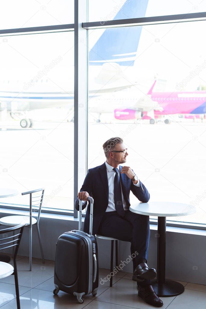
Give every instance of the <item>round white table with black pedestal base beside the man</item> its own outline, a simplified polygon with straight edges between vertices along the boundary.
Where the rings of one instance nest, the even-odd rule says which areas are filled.
[[[152,286],[158,296],[170,297],[184,292],[184,286],[177,281],[165,279],[166,255],[166,217],[180,217],[194,214],[195,207],[175,202],[148,202],[130,205],[130,211],[136,214],[158,217],[157,233],[157,279]]]

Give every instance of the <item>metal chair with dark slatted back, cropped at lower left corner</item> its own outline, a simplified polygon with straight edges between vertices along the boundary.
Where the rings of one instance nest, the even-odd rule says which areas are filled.
[[[18,309],[20,309],[20,300],[19,300],[19,284],[18,284],[18,274],[17,274],[17,267],[16,267],[16,256],[18,253],[19,244],[21,241],[22,233],[23,233],[23,228],[24,228],[24,225],[20,224],[18,226],[9,227],[9,228],[0,230],[0,235],[4,234],[3,236],[6,236],[0,239],[0,250],[15,247],[14,260],[13,260],[14,267],[6,262],[0,262],[0,279],[6,278],[14,274],[15,289],[16,289],[16,304],[17,304]],[[20,231],[17,232],[17,234],[15,234],[15,232],[19,229]],[[13,232],[13,235],[8,236],[9,232]],[[4,242],[5,240],[6,242]]]

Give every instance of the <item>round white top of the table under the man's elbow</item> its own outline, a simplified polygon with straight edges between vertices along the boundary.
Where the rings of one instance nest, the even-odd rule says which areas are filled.
[[[196,208],[189,204],[176,202],[139,202],[130,205],[130,211],[147,216],[180,217],[194,214]]]

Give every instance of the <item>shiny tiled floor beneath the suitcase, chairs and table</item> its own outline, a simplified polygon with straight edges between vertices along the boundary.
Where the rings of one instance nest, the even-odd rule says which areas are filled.
[[[155,308],[138,297],[137,284],[131,280],[130,273],[119,272],[113,277],[113,287],[109,281],[101,284],[109,274],[107,269],[99,269],[99,289],[96,297],[91,294],[84,297],[80,304],[72,295],[62,291],[53,295],[54,262],[33,259],[32,271],[29,272],[27,257],[18,256],[19,293],[21,309],[131,309]],[[181,282],[185,286],[183,294],[176,297],[161,298],[168,309],[203,309],[206,303],[206,286]],[[14,276],[0,279],[0,307],[16,309]]]

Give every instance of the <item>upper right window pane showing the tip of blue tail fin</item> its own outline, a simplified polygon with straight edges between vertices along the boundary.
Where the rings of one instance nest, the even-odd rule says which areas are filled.
[[[89,21],[205,12],[205,1],[89,0]]]

